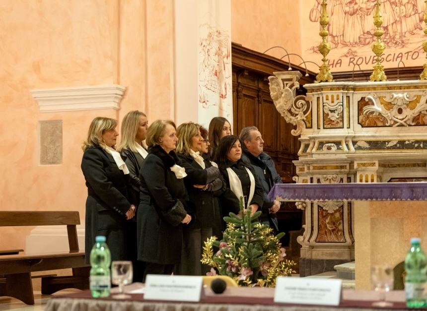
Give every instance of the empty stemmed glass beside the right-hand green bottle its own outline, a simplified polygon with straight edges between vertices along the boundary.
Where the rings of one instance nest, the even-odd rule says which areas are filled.
[[[391,307],[393,303],[386,302],[386,293],[393,289],[394,276],[393,269],[386,265],[375,265],[371,267],[372,289],[379,292],[379,301],[372,304],[376,307]]]

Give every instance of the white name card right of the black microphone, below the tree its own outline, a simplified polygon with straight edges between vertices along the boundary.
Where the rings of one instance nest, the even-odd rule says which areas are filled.
[[[275,303],[338,306],[341,280],[279,277]]]

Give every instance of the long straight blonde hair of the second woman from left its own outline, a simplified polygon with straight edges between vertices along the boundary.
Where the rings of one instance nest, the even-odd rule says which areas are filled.
[[[140,126],[141,117],[147,117],[144,113],[138,110],[130,111],[126,114],[122,121],[121,134],[122,139],[120,140],[118,151],[122,149],[130,149],[134,152],[138,152],[135,137],[138,133],[138,127]]]

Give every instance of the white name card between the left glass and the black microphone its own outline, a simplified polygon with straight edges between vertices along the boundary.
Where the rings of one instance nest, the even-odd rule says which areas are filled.
[[[201,276],[148,274],[144,299],[199,302],[202,289]]]

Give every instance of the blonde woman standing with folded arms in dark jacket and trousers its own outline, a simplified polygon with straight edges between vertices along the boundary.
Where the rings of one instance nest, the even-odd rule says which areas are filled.
[[[210,267],[200,262],[204,242],[212,237],[214,229],[222,224],[217,195],[225,190],[219,170],[200,154],[203,137],[200,125],[193,122],[178,126],[177,154],[187,176],[184,183],[190,201],[194,204],[195,220],[183,229],[181,263],[175,270],[183,275],[206,275]]]

